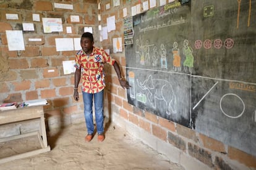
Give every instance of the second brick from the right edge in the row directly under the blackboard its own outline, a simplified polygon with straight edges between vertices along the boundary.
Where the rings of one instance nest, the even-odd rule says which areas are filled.
[[[216,152],[226,153],[225,146],[222,142],[212,139],[211,137],[207,137],[203,134],[199,134],[199,137],[203,142],[203,147],[209,148],[210,150]]]

